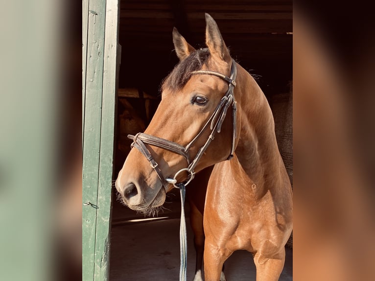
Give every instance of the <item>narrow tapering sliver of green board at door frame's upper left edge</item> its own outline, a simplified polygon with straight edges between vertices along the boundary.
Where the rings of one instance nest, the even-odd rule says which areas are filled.
[[[89,0],[82,0],[82,147],[85,123],[87,33],[89,28]]]

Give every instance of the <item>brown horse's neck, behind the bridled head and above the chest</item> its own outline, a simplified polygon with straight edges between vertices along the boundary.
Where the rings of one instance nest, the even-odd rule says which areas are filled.
[[[281,156],[275,136],[275,123],[266,97],[245,70],[238,73],[239,138],[235,154],[241,169],[251,182],[257,186],[270,186],[266,182],[268,175],[280,169]],[[242,80],[244,79],[244,80]]]

